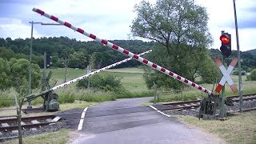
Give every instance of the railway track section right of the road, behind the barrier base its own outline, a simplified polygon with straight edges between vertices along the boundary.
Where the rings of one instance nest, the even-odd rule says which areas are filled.
[[[228,97],[232,102],[238,103],[239,102],[239,96],[231,96]],[[244,94],[242,96],[243,102],[250,102],[250,101],[256,101],[256,94]],[[171,102],[171,103],[163,103],[154,105],[158,110],[187,110],[187,109],[195,109],[200,106],[201,100],[194,100],[194,101],[187,101],[187,102]]]

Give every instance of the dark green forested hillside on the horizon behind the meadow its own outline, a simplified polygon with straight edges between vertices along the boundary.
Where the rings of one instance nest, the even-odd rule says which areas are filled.
[[[135,54],[142,53],[146,50],[150,50],[154,46],[154,42],[143,42],[141,40],[114,40],[110,41],[118,46],[122,46],[127,50]],[[66,37],[60,38],[36,38],[33,39],[33,55],[32,62],[43,67],[43,53],[52,56],[52,62],[54,67],[64,67],[65,58],[68,60],[68,67],[70,68],[86,68],[87,65],[91,65],[94,68],[100,68],[108,66],[114,62],[121,61],[127,58],[123,54],[116,52],[106,46],[103,46],[99,42],[89,41],[81,42],[76,39],[70,39]],[[256,67],[256,57],[250,52],[241,52],[242,69],[250,70]],[[29,59],[30,54],[30,38],[26,39],[14,39],[0,38],[0,58],[26,58]],[[216,58],[221,55],[220,50],[210,49],[211,58]],[[232,58],[236,57],[235,50],[232,51],[229,63]],[[159,63],[160,64],[160,63]],[[120,65],[121,67],[138,66],[139,62],[130,61]],[[161,64],[160,64],[161,65]]]

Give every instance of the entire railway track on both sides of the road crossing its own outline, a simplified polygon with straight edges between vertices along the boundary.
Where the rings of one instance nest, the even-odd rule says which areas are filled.
[[[238,96],[229,97],[234,103],[239,102]],[[245,94],[242,97],[244,102],[256,102],[256,94]],[[189,110],[196,109],[200,106],[201,100],[195,100],[190,102],[172,102],[154,105],[158,110],[164,111],[178,111],[178,110]],[[77,118],[74,118],[74,113],[72,120],[66,120],[65,114],[55,115],[43,115],[36,117],[25,117],[22,118],[22,132],[29,130],[32,133],[35,133],[36,130],[43,129],[42,126],[49,126],[53,123],[74,121],[80,119],[80,112],[77,113]],[[62,115],[62,116],[60,116]],[[68,114],[67,114],[68,115]],[[61,118],[62,117],[62,118]],[[68,116],[70,117],[70,116]],[[0,117],[0,142],[9,138],[17,138],[18,135],[18,118],[1,118]]]

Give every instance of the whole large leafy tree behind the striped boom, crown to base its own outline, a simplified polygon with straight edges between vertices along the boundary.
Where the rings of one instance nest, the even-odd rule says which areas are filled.
[[[135,6],[135,12],[138,17],[133,21],[131,34],[160,44],[149,54],[150,60],[192,81],[202,76],[199,68],[209,57],[206,47],[211,43],[204,7],[195,5],[194,0],[158,0],[154,5],[142,1]],[[152,80],[159,87],[183,87],[156,71],[147,70],[144,78],[151,82],[147,83],[149,87]]]

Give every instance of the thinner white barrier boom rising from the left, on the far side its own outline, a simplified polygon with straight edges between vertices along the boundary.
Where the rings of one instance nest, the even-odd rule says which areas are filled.
[[[142,54],[138,54],[138,55],[144,55],[144,54],[150,53],[151,51],[152,51],[152,50],[147,50],[146,52],[144,52],[144,53],[142,53]],[[96,74],[96,73],[98,73],[98,72],[101,72],[102,70],[107,70],[107,69],[110,69],[110,68],[112,68],[112,67],[114,67],[114,66],[118,66],[118,65],[120,65],[120,64],[122,64],[122,63],[124,63],[124,62],[128,62],[128,61],[130,61],[131,59],[132,59],[132,58],[126,58],[126,59],[124,59],[124,60],[122,60],[122,61],[120,61],[120,62],[116,62],[116,63],[114,63],[114,64],[112,64],[112,65],[110,65],[110,66],[106,66],[106,67],[103,67],[102,69],[95,70],[95,71],[93,71],[93,72],[91,72],[91,73],[89,73],[89,74],[85,74],[85,75],[82,75],[81,77],[74,78],[74,79],[70,80],[69,82],[65,82],[65,83],[62,83],[61,85],[54,86],[53,88],[51,88],[51,89],[49,89],[49,90],[42,91],[42,92],[39,93],[39,94],[36,94],[36,95],[31,94],[31,95],[29,95],[29,96],[26,97],[26,100],[25,100],[24,102],[30,102],[30,101],[34,100],[35,98],[40,97],[42,94],[46,94],[46,93],[49,93],[49,92],[52,91],[52,90],[56,90],[56,89],[61,88],[61,87],[63,87],[63,86],[70,85],[70,84],[73,83],[73,82],[78,82],[78,81],[80,81],[80,80],[82,80],[82,79],[84,79],[84,78],[90,77],[90,76],[93,75],[93,74]]]

